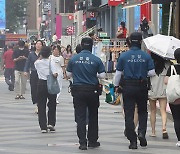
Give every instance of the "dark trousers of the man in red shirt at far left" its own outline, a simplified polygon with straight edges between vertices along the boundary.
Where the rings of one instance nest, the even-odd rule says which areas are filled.
[[[14,88],[14,83],[15,83],[14,68],[5,68],[4,77],[6,83]]]

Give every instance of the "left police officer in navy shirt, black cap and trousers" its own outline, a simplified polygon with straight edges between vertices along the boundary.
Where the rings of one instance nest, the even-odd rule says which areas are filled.
[[[89,37],[81,41],[82,51],[73,56],[67,67],[67,75],[73,78],[71,88],[77,122],[77,135],[79,149],[87,150],[88,147],[99,147],[98,140],[98,108],[99,91],[98,78],[105,77],[105,68],[100,58],[92,52],[93,40]],[[86,138],[86,112],[89,112],[88,133]]]

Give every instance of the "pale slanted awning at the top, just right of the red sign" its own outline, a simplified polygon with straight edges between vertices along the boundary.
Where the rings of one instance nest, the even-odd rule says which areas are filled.
[[[138,0],[138,1],[127,1],[126,4],[124,4],[123,9],[132,8],[136,6],[140,6],[146,3],[150,3],[152,0]]]

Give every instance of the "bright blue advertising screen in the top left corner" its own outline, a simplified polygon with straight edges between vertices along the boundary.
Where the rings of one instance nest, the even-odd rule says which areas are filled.
[[[0,0],[0,30],[6,29],[6,8],[5,0]]]

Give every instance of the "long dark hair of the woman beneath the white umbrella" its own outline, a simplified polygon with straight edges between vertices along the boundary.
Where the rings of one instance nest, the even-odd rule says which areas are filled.
[[[162,57],[152,52],[151,52],[151,57],[154,60],[155,72],[159,76],[163,72],[167,60],[163,59]]]

